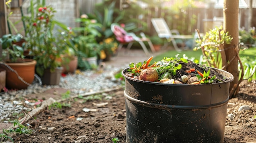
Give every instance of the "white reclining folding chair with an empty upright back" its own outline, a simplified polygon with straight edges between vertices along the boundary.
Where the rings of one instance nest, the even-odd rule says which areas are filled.
[[[170,30],[164,18],[152,18],[151,22],[155,28],[155,31],[157,32],[158,37],[170,40],[170,42],[173,43],[176,51],[181,51],[181,48],[177,46],[175,39],[180,39],[183,43],[184,40],[193,39],[193,35],[180,35],[176,29]],[[168,44],[169,43],[166,43],[164,47],[168,46]]]

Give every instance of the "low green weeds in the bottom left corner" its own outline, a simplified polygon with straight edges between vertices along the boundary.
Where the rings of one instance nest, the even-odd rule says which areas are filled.
[[[16,134],[31,134],[34,130],[29,130],[25,125],[22,125],[19,123],[19,121],[11,121],[13,123],[14,128],[6,130],[3,129],[3,133],[0,134],[0,138],[2,138],[2,141],[8,141],[11,140],[13,142],[13,139],[8,136],[10,133],[16,133]]]

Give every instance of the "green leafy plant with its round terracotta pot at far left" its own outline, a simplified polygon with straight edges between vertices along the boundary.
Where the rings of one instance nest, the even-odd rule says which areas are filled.
[[[7,34],[0,38],[2,46],[0,67],[6,70],[6,87],[8,89],[25,89],[34,81],[36,61],[25,59],[23,48],[16,42],[23,39],[22,35]]]

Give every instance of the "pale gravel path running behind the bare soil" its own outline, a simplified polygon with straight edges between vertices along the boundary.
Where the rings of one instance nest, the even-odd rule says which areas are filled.
[[[112,57],[110,61],[104,62],[103,68],[82,71],[80,74],[68,74],[66,77],[61,77],[59,85],[42,86],[35,79],[33,87],[29,86],[25,90],[0,92],[0,120],[7,123],[11,114],[19,114],[22,110],[31,111],[35,103],[30,103],[29,101],[24,103],[20,100],[29,94],[40,94],[53,88],[65,88],[75,95],[81,95],[88,92],[99,92],[121,87],[120,81],[114,77],[116,73],[127,68],[130,62],[144,62],[150,56],[157,54],[159,53],[147,56],[142,50],[121,51],[117,56]],[[29,104],[31,108],[25,107],[26,104]]]

